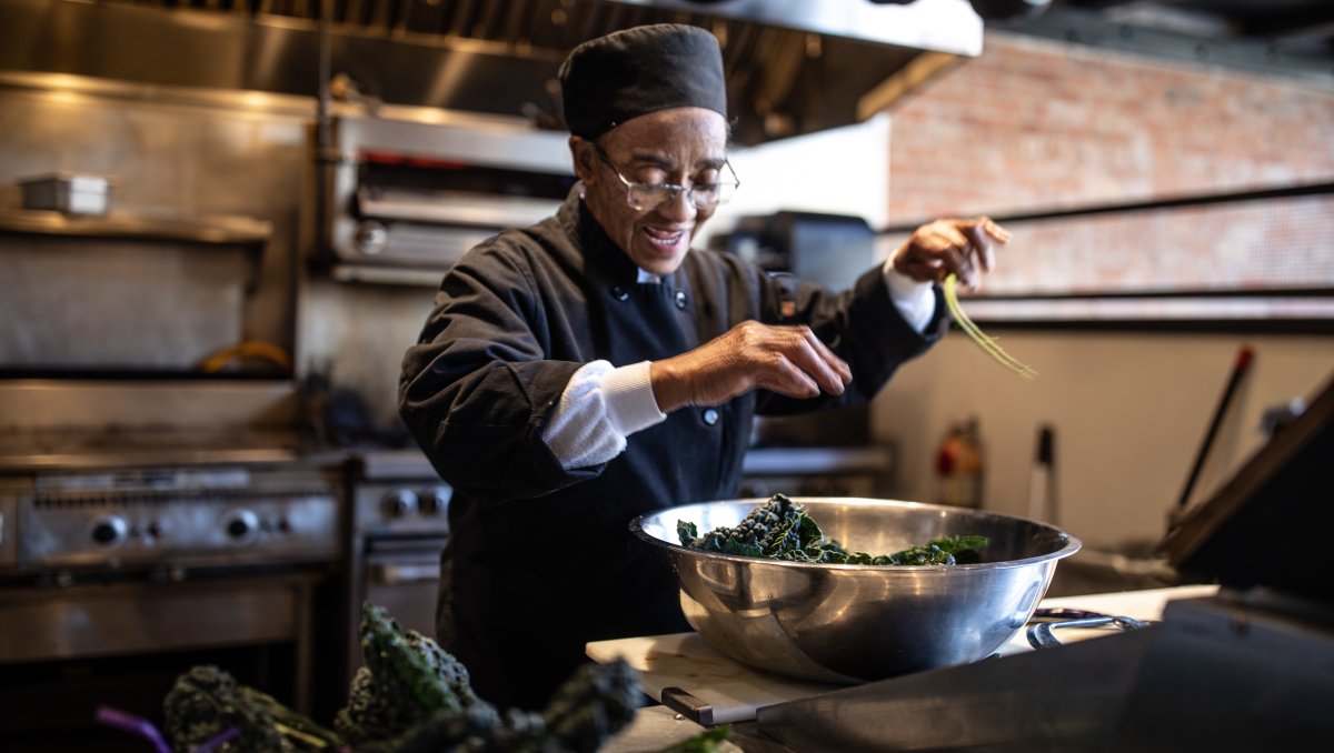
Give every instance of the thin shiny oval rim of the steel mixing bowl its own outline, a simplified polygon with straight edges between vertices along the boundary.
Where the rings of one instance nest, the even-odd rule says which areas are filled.
[[[687,502],[687,504],[683,504],[683,505],[671,505],[671,506],[667,506],[667,508],[662,508],[662,509],[656,509],[656,510],[652,510],[652,512],[647,512],[647,513],[635,516],[630,521],[630,533],[634,534],[640,541],[644,541],[646,544],[648,544],[651,546],[666,549],[666,550],[668,550],[668,552],[671,552],[674,554],[683,554],[683,556],[690,556],[690,557],[708,557],[708,558],[714,558],[714,560],[723,560],[723,561],[732,561],[732,562],[740,562],[740,564],[747,564],[747,565],[760,565],[760,566],[772,565],[772,566],[778,566],[778,568],[799,568],[799,569],[815,568],[815,569],[826,569],[826,570],[851,570],[851,572],[912,572],[912,573],[939,572],[939,573],[955,573],[955,572],[968,572],[968,570],[1000,570],[1000,569],[1011,569],[1011,568],[1026,568],[1026,566],[1030,566],[1030,565],[1034,565],[1034,564],[1038,564],[1038,562],[1062,560],[1065,557],[1069,557],[1069,556],[1074,554],[1075,552],[1078,552],[1079,549],[1083,548],[1083,541],[1081,541],[1079,537],[1077,537],[1075,534],[1073,534],[1073,533],[1070,533],[1070,532],[1067,532],[1067,530],[1065,530],[1062,528],[1058,528],[1058,526],[1051,525],[1049,522],[1042,522],[1042,521],[1037,521],[1037,520],[1033,520],[1033,518],[1026,518],[1023,516],[1017,516],[1017,514],[1010,514],[1010,513],[1002,513],[1002,512],[995,512],[995,510],[983,510],[983,509],[974,509],[974,508],[958,508],[958,506],[951,506],[951,505],[938,505],[938,504],[931,504],[931,502],[915,502],[915,501],[910,501],[910,500],[891,500],[891,498],[879,498],[879,497],[828,497],[828,496],[806,497],[806,496],[803,496],[803,497],[798,498],[798,497],[794,497],[794,496],[790,496],[790,494],[788,494],[788,497],[794,502],[800,502],[803,505],[807,504],[807,502],[814,501],[816,505],[820,505],[820,504],[852,504],[854,506],[894,506],[894,508],[900,508],[902,506],[902,508],[920,508],[920,509],[940,510],[940,512],[952,512],[952,513],[968,513],[968,514],[978,514],[978,516],[984,516],[984,517],[1013,520],[1013,521],[1019,521],[1019,522],[1025,522],[1025,524],[1029,524],[1029,525],[1037,525],[1037,526],[1041,526],[1041,528],[1050,529],[1054,533],[1057,533],[1058,536],[1065,537],[1065,545],[1061,549],[1058,549],[1055,552],[1049,552],[1046,554],[1038,554],[1038,556],[1034,556],[1034,557],[1025,557],[1022,560],[1003,560],[1003,561],[999,561],[999,562],[975,562],[975,564],[962,564],[962,565],[855,565],[855,564],[847,564],[847,562],[798,562],[798,561],[792,561],[792,560],[770,560],[767,557],[751,557],[748,554],[727,554],[727,553],[723,553],[723,552],[703,552],[700,549],[691,549],[690,546],[683,546],[682,544],[678,544],[678,542],[664,541],[662,538],[658,538],[656,536],[652,536],[647,530],[644,530],[644,520],[647,520],[650,517],[659,517],[659,516],[663,516],[663,514],[670,513],[672,510],[680,510],[680,509],[686,509],[686,508],[698,508],[698,506],[702,506],[702,505],[718,505],[718,504],[731,504],[731,505],[734,505],[734,504],[738,504],[738,502],[754,502],[755,505],[760,505],[760,504],[768,501],[772,497],[738,497],[738,498],[734,498],[734,500],[707,500],[707,501],[702,501],[702,502]],[[886,505],[886,502],[888,502],[888,505]]]

